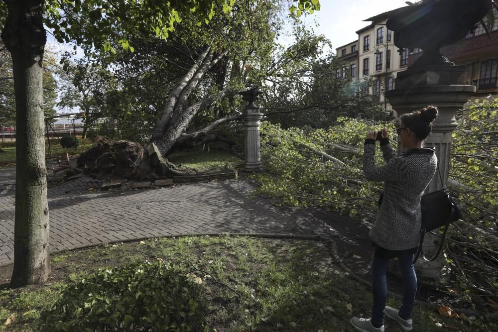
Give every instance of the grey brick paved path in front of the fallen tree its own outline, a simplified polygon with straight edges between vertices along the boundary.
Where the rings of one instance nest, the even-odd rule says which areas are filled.
[[[48,189],[50,250],[141,237],[208,232],[333,234],[326,215],[248,199],[247,180],[126,192],[89,192],[80,178]],[[0,169],[0,264],[13,259],[15,169]]]

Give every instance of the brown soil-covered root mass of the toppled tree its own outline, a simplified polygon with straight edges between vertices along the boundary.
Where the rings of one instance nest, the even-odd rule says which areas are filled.
[[[163,176],[187,174],[174,164],[168,163],[167,168],[172,172],[167,172],[164,167],[153,167],[151,161],[143,146],[138,143],[97,137],[95,146],[78,158],[78,167],[97,176],[127,180],[152,180]]]

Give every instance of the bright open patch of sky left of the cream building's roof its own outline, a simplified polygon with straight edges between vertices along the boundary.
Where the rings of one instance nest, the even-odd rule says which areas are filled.
[[[406,0],[320,0],[321,9],[306,19],[315,16],[320,26],[317,34],[323,34],[332,42],[335,53],[337,47],[358,39],[356,31],[370,24],[364,19],[377,14],[404,7]],[[411,0],[415,2],[414,0]]]

